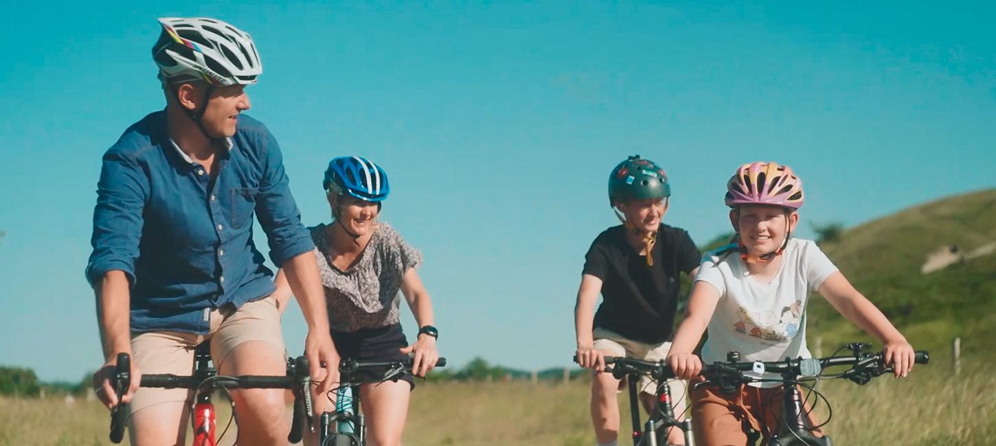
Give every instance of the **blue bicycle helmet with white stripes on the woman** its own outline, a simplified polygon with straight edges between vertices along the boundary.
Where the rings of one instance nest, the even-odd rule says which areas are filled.
[[[383,201],[390,193],[387,173],[370,159],[360,156],[338,156],[329,161],[322,187],[339,195],[349,194],[373,202]]]

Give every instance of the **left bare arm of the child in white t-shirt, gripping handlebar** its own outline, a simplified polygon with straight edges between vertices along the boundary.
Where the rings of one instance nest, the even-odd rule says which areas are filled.
[[[698,281],[692,285],[684,320],[678,326],[667,353],[671,370],[680,378],[688,379],[702,371],[702,360],[692,351],[709,326],[709,320],[719,303],[719,290],[707,282]]]

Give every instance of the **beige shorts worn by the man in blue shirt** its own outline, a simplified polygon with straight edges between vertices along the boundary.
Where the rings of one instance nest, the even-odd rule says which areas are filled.
[[[284,336],[280,331],[280,313],[273,296],[246,303],[235,311],[231,306],[211,311],[210,332],[144,332],[131,335],[131,357],[142,373],[172,373],[189,375],[193,371],[194,348],[211,342],[211,360],[221,369],[228,353],[236,345],[250,341],[270,342],[284,351]],[[129,404],[131,413],[155,404],[187,402],[187,389],[140,387]]]

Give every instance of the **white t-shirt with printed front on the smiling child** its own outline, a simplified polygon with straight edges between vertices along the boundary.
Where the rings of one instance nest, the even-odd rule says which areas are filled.
[[[695,282],[705,282],[719,291],[702,361],[726,361],[726,352],[734,350],[740,352],[741,361],[812,357],[806,347],[807,298],[838,271],[833,262],[813,241],[790,239],[778,273],[763,284],[747,271],[738,251],[719,256],[723,248],[705,253],[695,276]]]

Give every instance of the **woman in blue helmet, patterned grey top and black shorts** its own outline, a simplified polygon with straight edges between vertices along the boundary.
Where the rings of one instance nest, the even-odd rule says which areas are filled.
[[[415,268],[421,255],[385,223],[377,221],[390,187],[387,174],[372,161],[341,156],[329,163],[323,186],[332,209],[332,223],[309,228],[322,272],[332,337],[344,358],[389,361],[414,355],[412,370],[424,376],[436,362],[438,333],[432,303]],[[278,299],[289,300],[291,291],[281,272]],[[408,303],[418,334],[408,345],[398,321],[400,291]],[[407,416],[410,376],[379,381],[382,371],[363,376],[362,408],[369,440],[378,446],[400,444]],[[328,401],[319,401],[321,410]]]

